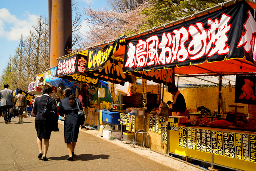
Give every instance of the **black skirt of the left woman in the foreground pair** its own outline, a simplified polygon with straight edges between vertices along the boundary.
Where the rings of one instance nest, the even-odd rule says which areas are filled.
[[[35,120],[37,137],[50,139],[52,128],[47,120]]]

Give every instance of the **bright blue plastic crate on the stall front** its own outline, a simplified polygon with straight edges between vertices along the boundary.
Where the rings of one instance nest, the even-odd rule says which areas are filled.
[[[120,125],[120,113],[118,111],[107,111],[102,110],[102,121],[111,125]],[[101,114],[101,110],[99,110],[99,117]]]

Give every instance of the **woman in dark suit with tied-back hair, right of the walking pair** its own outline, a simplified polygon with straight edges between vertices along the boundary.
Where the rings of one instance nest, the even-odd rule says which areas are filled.
[[[78,121],[78,105],[82,109],[79,99],[75,99],[71,88],[64,90],[64,98],[59,104],[59,115],[64,116],[64,137],[67,143],[69,157],[67,160],[73,161],[75,153],[75,145],[77,143],[80,122]],[[78,104],[77,104],[78,103]]]

